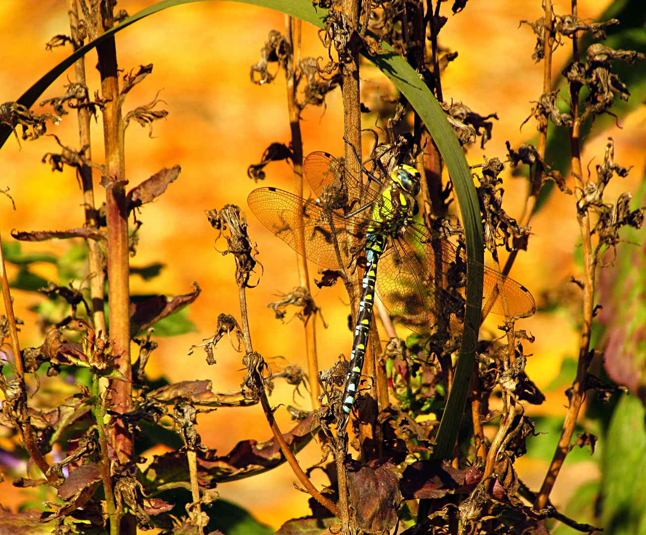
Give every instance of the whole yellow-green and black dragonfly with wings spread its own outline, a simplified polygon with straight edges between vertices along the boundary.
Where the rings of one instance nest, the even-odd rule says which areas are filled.
[[[490,312],[526,318],[536,311],[523,285],[469,261],[464,248],[415,221],[421,177],[414,167],[399,165],[381,180],[364,169],[364,183],[330,154],[312,152],[303,172],[317,199],[264,187],[247,203],[273,234],[321,267],[347,269],[365,257],[337,432],[345,431],[357,398],[376,294],[406,327],[432,334],[450,314],[464,317],[469,263],[483,272]]]

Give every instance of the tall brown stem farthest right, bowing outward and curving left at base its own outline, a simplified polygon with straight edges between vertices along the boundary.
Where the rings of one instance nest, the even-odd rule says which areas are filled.
[[[572,0],[572,15],[577,15],[576,0]],[[572,37],[574,48],[574,61],[579,61],[578,36]],[[570,443],[574,434],[574,426],[579,416],[579,410],[585,398],[585,376],[590,365],[590,334],[592,332],[592,314],[594,310],[594,251],[590,234],[590,214],[587,208],[580,207],[581,197],[583,196],[583,170],[581,168],[581,154],[579,144],[579,129],[581,127],[581,118],[579,117],[579,88],[576,85],[570,85],[570,112],[572,114],[572,126],[570,127],[570,152],[572,156],[572,175],[576,185],[577,200],[577,220],[579,231],[581,232],[581,243],[583,248],[583,272],[585,276],[585,285],[583,287],[583,322],[581,326],[581,343],[579,347],[579,361],[576,369],[576,378],[572,383],[570,393],[570,403],[568,412],[563,423],[561,438],[554,452],[552,463],[548,469],[543,486],[534,503],[535,509],[542,509],[554,487],[554,482],[561,470],[563,461],[570,451]]]

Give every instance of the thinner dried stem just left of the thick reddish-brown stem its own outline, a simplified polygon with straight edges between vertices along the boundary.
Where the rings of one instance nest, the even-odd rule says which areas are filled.
[[[72,32],[72,44],[74,50],[82,46],[82,40],[78,35],[78,5],[76,0],[67,0],[67,13],[70,18],[70,30]],[[74,64],[76,72],[76,83],[85,87],[85,57],[81,57]],[[89,92],[88,92],[89,96]],[[79,168],[81,185],[83,187],[83,205],[85,206],[85,226],[98,228],[96,221],[96,208],[94,205],[94,185],[92,184],[92,148],[90,146],[90,112],[87,108],[80,106],[77,110],[79,121],[79,144],[81,149],[85,147],[84,162]],[[105,326],[105,312],[103,311],[103,283],[105,274],[103,272],[103,261],[101,260],[101,248],[94,239],[86,240],[88,247],[88,263],[90,268],[90,297],[92,299],[92,319],[94,330],[107,332]]]

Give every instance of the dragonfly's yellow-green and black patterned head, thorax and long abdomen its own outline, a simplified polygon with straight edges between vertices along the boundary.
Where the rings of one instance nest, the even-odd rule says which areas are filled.
[[[368,331],[375,301],[377,262],[384,252],[389,237],[397,237],[401,230],[411,225],[417,212],[415,196],[420,190],[420,174],[410,165],[396,167],[390,179],[381,187],[379,203],[373,207],[372,221],[366,230],[366,271],[362,281],[357,327],[352,344],[350,372],[343,392],[342,414],[337,430],[348,425],[348,416],[355,403],[361,369],[366,356]]]

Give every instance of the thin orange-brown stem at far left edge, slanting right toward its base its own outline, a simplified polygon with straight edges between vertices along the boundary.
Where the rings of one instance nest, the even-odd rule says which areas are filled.
[[[50,474],[49,464],[43,457],[43,454],[38,449],[36,440],[34,440],[34,434],[32,433],[32,421],[28,414],[27,407],[27,387],[25,384],[25,364],[23,363],[23,356],[20,352],[20,345],[18,343],[18,329],[16,327],[16,316],[14,315],[14,305],[11,301],[11,294],[9,292],[9,281],[6,278],[6,268],[5,268],[5,254],[2,250],[2,239],[0,237],[0,283],[2,284],[2,296],[5,303],[5,314],[6,319],[9,325],[9,336],[11,339],[11,348],[14,353],[14,372],[16,373],[16,379],[18,384],[15,387],[12,387],[12,390],[17,389],[18,398],[16,399],[16,407],[18,409],[16,424],[17,428],[20,431],[21,438],[23,439],[23,444],[25,444],[25,449],[27,450],[29,456],[34,459],[36,466],[45,474],[45,477],[51,483],[56,483],[57,476],[56,474]],[[7,401],[8,394],[8,385],[6,385],[5,379],[1,376],[3,392],[5,393],[5,404]],[[9,396],[10,397],[10,396]]]

